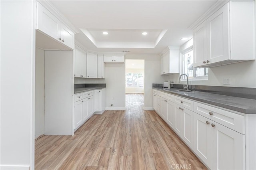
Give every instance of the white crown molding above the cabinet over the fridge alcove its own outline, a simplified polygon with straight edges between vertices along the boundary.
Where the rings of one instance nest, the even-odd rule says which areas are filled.
[[[74,34],[78,34],[80,32],[49,0],[38,0],[38,2],[56,16],[65,26],[74,32]]]

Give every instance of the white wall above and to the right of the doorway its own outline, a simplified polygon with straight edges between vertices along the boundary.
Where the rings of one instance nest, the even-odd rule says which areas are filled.
[[[152,83],[163,83],[164,76],[160,75],[159,55],[132,55],[127,54],[125,59],[144,59],[144,109],[150,110],[152,107]]]

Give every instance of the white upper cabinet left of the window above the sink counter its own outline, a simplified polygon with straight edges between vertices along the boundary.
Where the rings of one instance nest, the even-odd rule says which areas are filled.
[[[169,47],[160,57],[160,74],[180,73],[180,49]]]

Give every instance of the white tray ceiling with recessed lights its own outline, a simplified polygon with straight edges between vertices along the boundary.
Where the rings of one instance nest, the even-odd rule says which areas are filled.
[[[192,38],[188,27],[216,0],[50,0],[87,49],[159,54]],[[108,32],[108,35],[102,32]],[[148,32],[148,35],[142,35]],[[181,38],[188,38],[182,41]]]

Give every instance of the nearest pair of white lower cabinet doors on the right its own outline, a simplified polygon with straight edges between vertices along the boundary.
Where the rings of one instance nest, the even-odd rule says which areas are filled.
[[[245,135],[194,114],[194,152],[210,169],[245,169]]]

